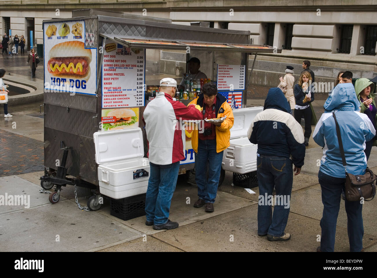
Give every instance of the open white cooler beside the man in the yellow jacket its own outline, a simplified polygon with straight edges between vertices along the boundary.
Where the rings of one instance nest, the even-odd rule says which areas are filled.
[[[230,146],[224,150],[222,169],[245,174],[257,170],[258,145],[250,143],[247,131],[254,117],[263,107],[238,108],[233,110],[234,124],[230,129]]]

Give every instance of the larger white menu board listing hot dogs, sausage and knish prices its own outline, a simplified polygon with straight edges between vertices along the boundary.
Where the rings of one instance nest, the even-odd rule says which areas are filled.
[[[106,43],[102,61],[102,108],[144,106],[145,49]]]

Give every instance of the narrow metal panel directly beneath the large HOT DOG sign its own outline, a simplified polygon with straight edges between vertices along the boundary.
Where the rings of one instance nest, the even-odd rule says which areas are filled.
[[[69,93],[44,92],[44,103],[63,107],[68,106],[90,112],[97,111],[97,98],[88,98],[87,95],[76,94],[70,96]]]

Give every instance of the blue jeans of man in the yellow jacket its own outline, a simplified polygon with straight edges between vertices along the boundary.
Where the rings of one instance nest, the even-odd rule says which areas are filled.
[[[195,156],[195,182],[198,185],[198,196],[206,203],[215,203],[224,151],[216,152],[216,139],[198,139],[198,141],[198,153]]]

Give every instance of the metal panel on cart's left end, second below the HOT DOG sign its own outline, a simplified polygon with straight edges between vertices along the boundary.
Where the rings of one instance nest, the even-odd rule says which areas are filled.
[[[96,113],[87,112],[57,105],[44,105],[44,127],[60,130],[72,135],[83,135],[93,137],[93,133],[98,131]],[[78,149],[78,148],[77,148]]]

